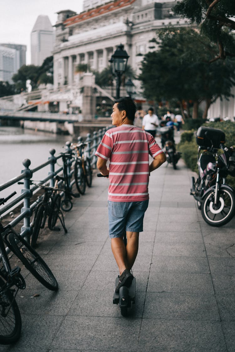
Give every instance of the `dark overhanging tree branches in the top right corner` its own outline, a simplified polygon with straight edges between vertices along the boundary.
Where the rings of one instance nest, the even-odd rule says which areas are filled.
[[[234,0],[182,0],[177,1],[173,11],[199,25],[201,33],[217,43],[210,62],[235,56]]]

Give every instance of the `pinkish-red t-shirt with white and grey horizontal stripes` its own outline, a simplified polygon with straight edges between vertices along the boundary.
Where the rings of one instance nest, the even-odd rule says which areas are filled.
[[[110,161],[108,199],[135,202],[149,199],[149,154],[163,153],[150,133],[133,125],[108,130],[95,155]]]

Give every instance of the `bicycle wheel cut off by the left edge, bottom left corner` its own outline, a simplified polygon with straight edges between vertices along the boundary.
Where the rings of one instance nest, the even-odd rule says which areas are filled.
[[[0,292],[4,281],[0,278]],[[9,312],[8,309],[11,306]],[[7,313],[8,312],[8,313]],[[21,316],[10,290],[0,293],[0,344],[16,342],[21,332]]]

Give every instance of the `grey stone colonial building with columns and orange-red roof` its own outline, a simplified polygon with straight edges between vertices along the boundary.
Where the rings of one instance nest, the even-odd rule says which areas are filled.
[[[94,3],[85,0],[84,5],[88,2]],[[93,70],[103,70],[120,43],[130,56],[128,64],[138,74],[141,56],[151,50],[149,40],[156,37],[156,30],[188,24],[187,20],[174,16],[175,1],[97,2],[99,6],[79,14],[71,10],[57,12],[53,52],[55,88],[74,84],[76,66],[80,63],[88,64]]]

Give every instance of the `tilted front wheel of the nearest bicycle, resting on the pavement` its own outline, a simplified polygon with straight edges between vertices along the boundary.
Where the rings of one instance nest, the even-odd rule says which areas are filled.
[[[47,287],[49,290],[56,291],[58,283],[51,270],[39,256],[39,254],[25,241],[19,234],[11,232],[9,241],[12,246],[12,252],[21,260],[25,268],[31,274]]]

